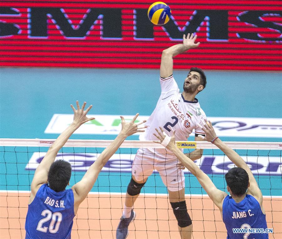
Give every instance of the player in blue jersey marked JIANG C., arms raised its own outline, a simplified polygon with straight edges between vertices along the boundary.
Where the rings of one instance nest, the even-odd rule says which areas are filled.
[[[243,239],[247,238],[247,234],[249,234],[248,238],[250,239],[269,238],[267,233],[249,233],[250,231],[254,232],[256,230],[255,228],[260,228],[260,232],[265,232],[267,228],[262,193],[248,165],[234,150],[217,137],[212,123],[206,121],[206,124],[202,127],[206,136],[202,138],[215,144],[237,166],[225,174],[227,191],[231,196],[217,189],[212,180],[176,147],[175,132],[170,138],[164,134],[161,127],[160,129],[160,132],[156,129],[158,135],[154,134],[160,142],[154,142],[163,142],[162,144],[172,151],[183,165],[197,177],[201,186],[221,212],[227,229],[227,239]],[[239,230],[237,230],[237,233],[233,231],[233,229],[236,230],[238,228],[247,230],[243,233],[238,233]]]

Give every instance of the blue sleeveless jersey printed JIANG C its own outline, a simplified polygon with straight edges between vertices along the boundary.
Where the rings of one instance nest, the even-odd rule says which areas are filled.
[[[249,194],[239,203],[227,195],[222,204],[222,219],[227,229],[227,239],[268,238],[267,233],[233,233],[233,228],[267,228],[259,202]],[[249,234],[248,237],[246,234]]]

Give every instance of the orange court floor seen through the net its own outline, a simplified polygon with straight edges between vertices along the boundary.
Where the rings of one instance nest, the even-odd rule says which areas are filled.
[[[116,238],[124,194],[90,193],[81,203],[74,218],[71,238]],[[0,238],[25,238],[24,223],[29,192],[0,193]],[[193,222],[194,239],[223,239],[227,233],[219,210],[207,195],[186,195],[188,212]],[[269,238],[282,238],[282,198],[264,197]],[[129,225],[127,239],[180,238],[177,221],[167,195],[149,194],[138,197],[134,204],[135,220]]]

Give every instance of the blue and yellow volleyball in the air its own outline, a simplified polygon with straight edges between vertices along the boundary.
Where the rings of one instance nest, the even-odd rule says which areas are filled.
[[[164,2],[154,2],[148,9],[148,17],[155,25],[164,25],[170,20],[170,7]]]

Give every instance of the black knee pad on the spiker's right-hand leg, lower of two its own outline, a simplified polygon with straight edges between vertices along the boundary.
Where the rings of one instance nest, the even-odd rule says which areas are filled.
[[[192,220],[187,212],[186,202],[170,202],[179,227],[188,227]]]

